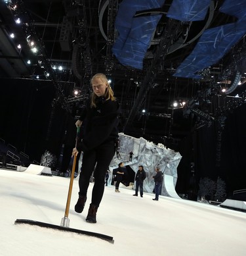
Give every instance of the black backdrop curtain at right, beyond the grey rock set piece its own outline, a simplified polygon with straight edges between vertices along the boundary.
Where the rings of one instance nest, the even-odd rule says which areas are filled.
[[[220,162],[216,159],[218,127],[216,122],[209,127],[195,130],[179,144],[182,160],[178,165],[176,192],[188,193],[190,187],[198,190],[200,178],[218,176],[226,182],[227,195],[234,190],[246,189],[246,105],[237,107],[227,118],[222,130]],[[194,162],[194,179],[191,163]]]

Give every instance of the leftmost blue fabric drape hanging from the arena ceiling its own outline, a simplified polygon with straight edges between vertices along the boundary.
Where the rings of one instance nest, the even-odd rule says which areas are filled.
[[[136,11],[160,8],[165,0],[125,0],[119,5],[115,28],[119,36],[112,51],[119,63],[142,69],[144,56],[161,14],[136,16]]]

